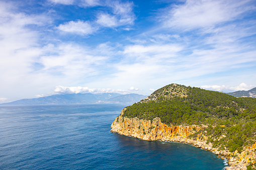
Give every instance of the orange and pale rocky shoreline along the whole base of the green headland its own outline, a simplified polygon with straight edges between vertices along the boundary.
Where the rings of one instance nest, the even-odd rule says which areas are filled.
[[[153,121],[141,120],[138,118],[126,118],[123,117],[123,111],[115,119],[111,125],[111,132],[115,132],[125,136],[132,136],[142,140],[161,140],[170,142],[180,142],[192,144],[198,148],[212,151],[219,155],[222,159],[226,159],[228,166],[225,167],[227,170],[231,169],[242,169],[246,170],[249,162],[252,164],[256,162],[256,143],[247,145],[243,148],[241,153],[229,152],[226,150],[218,150],[218,148],[212,147],[212,143],[206,143],[207,136],[200,136],[196,139],[188,138],[189,135],[195,132],[207,128],[207,126],[167,126],[161,123],[160,118],[154,118]],[[199,137],[200,136],[200,137]]]

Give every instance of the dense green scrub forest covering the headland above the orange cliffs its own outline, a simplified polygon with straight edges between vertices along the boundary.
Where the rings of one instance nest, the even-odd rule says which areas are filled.
[[[197,134],[208,137],[219,150],[240,152],[256,141],[256,99],[236,98],[197,87],[170,84],[146,99],[128,106],[125,117],[152,120],[160,117],[167,125],[207,125]],[[203,134],[203,135],[202,135]]]

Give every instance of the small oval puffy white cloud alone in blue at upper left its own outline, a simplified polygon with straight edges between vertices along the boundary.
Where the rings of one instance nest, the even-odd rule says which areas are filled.
[[[70,21],[65,24],[60,24],[57,29],[63,32],[78,34],[78,35],[89,35],[97,31],[96,28],[92,27],[89,22],[83,21]]]

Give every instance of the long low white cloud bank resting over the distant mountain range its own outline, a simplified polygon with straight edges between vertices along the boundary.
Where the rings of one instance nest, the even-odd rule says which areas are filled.
[[[54,89],[55,93],[58,94],[77,94],[77,93],[126,93],[125,90],[120,89],[104,89],[104,88],[89,88],[89,87],[64,87],[64,86],[57,86]]]

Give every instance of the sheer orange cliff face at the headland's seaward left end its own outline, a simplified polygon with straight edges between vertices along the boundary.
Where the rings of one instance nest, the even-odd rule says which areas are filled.
[[[173,141],[175,138],[187,137],[202,129],[196,125],[192,126],[167,126],[161,123],[160,118],[141,120],[138,118],[126,118],[118,116],[111,125],[111,131],[125,136],[133,136],[142,140],[167,140]]]

